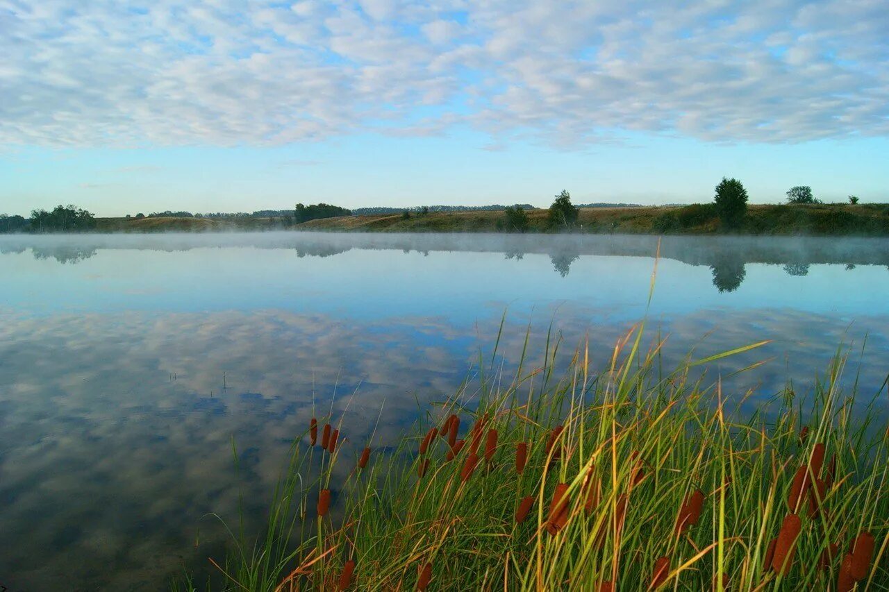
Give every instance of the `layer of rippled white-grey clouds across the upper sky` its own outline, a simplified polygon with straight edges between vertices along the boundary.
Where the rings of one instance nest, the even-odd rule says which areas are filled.
[[[889,6],[0,0],[0,144],[889,132]]]

